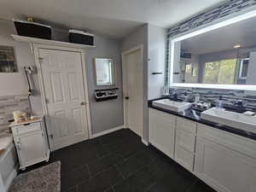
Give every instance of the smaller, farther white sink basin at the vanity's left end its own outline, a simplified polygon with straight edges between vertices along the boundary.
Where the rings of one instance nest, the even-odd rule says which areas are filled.
[[[190,108],[192,103],[190,102],[173,102],[170,99],[161,99],[153,102],[153,106],[159,108],[165,108],[175,112],[182,112],[183,110]]]

